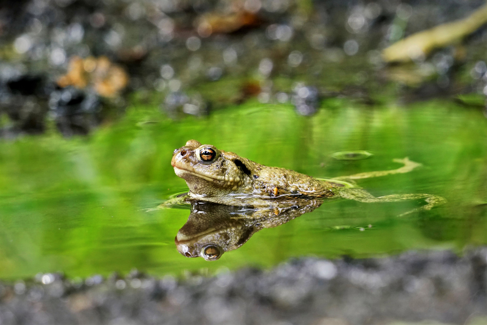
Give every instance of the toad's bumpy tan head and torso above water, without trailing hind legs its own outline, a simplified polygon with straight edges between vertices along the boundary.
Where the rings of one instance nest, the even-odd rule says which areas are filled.
[[[215,153],[214,158],[209,159],[205,153]],[[288,169],[267,167],[196,140],[176,149],[171,165],[186,180],[190,199],[227,205],[326,198],[335,195],[334,188],[343,186]]]

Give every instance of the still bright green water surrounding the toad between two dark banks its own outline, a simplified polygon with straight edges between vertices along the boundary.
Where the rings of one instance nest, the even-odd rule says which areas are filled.
[[[375,196],[441,195],[448,203],[332,200],[278,228],[263,229],[215,262],[178,253],[174,237],[189,210],[152,210],[186,188],[170,166],[174,149],[196,139],[256,162],[313,176],[424,166],[358,180]],[[365,160],[332,157],[367,150]],[[221,267],[271,267],[290,257],[381,256],[408,249],[460,251],[487,243],[487,119],[451,101],[407,106],[323,102],[311,117],[290,105],[248,102],[205,118],[173,121],[155,104],[130,107],[89,137],[52,133],[0,141],[0,278],[62,271],[69,277],[153,275]],[[366,227],[364,231],[357,227]],[[336,227],[344,226],[344,227]],[[339,229],[342,228],[342,229]]]

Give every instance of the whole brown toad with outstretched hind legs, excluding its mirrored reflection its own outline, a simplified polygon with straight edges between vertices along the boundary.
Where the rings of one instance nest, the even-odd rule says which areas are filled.
[[[367,172],[335,179],[314,178],[279,167],[267,167],[213,145],[187,141],[173,153],[171,165],[183,178],[187,201],[198,200],[235,206],[269,206],[279,202],[344,197],[361,202],[392,202],[424,198],[430,210],[444,202],[431,194],[394,194],[374,197],[353,183],[354,179],[409,172],[420,166],[408,158],[395,159],[404,166],[391,171]],[[417,209],[416,209],[417,210]]]

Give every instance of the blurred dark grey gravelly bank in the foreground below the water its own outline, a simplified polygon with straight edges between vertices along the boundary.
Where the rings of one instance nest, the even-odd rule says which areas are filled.
[[[180,281],[36,279],[1,285],[0,324],[484,324],[487,315],[487,248],[302,258]]]

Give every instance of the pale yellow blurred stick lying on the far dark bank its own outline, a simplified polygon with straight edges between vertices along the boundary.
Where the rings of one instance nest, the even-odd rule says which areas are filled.
[[[386,62],[410,61],[466,37],[486,22],[487,4],[467,18],[441,24],[395,42],[382,51],[382,58]]]

